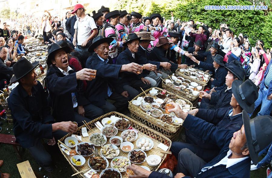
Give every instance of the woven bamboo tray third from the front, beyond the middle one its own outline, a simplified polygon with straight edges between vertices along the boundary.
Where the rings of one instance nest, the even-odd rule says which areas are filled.
[[[184,77],[184,78],[185,78],[185,77]],[[167,77],[166,79],[169,79],[169,80],[170,80],[169,77]],[[191,79],[189,79],[189,80],[191,80]],[[192,81],[192,80],[191,80],[191,81]],[[196,83],[197,83],[198,85],[200,85],[200,86],[203,86],[202,83],[200,83],[199,81],[196,82]],[[206,85],[206,84],[205,84],[205,85]],[[191,101],[192,103],[195,102],[195,100],[197,100],[198,97],[199,97],[199,96],[195,96],[195,95],[192,95],[192,94],[187,94],[187,93],[185,93],[185,92],[183,92],[183,91],[181,91],[181,90],[179,90],[179,89],[176,89],[176,88],[174,88],[174,87],[172,87],[172,86],[166,85],[165,80],[162,81],[162,88],[163,88],[163,89],[166,89],[167,91],[171,91],[171,92],[173,92],[173,93],[175,93],[175,94],[177,94],[177,95],[179,95],[179,96],[181,96],[181,97],[183,97],[183,98],[186,98],[186,99],[188,99],[189,101]],[[202,90],[203,90],[203,89],[204,89],[204,86],[202,87]]]

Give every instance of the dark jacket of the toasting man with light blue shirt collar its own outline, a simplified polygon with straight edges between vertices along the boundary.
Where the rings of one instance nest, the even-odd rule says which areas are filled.
[[[87,82],[86,97],[91,104],[96,106],[105,105],[105,99],[108,99],[108,86],[117,93],[124,91],[119,77],[119,71],[122,65],[113,64],[112,58],[108,57],[108,62],[102,60],[94,54],[87,59],[86,67],[97,70],[95,79]]]

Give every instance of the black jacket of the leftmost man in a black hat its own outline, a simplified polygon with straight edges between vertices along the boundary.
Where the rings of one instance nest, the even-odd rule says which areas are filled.
[[[39,81],[32,87],[32,96],[21,84],[11,91],[8,107],[13,118],[13,132],[23,148],[33,146],[36,138],[53,138],[52,124],[45,124],[54,122],[46,96]]]

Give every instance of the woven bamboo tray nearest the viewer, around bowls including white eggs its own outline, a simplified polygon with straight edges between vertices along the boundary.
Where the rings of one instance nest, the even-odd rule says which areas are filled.
[[[132,142],[132,143],[134,144],[134,149],[138,149],[137,146],[136,146],[136,141],[137,141],[139,138],[149,137],[149,138],[152,139],[152,141],[154,142],[153,148],[156,148],[157,145],[159,145],[159,143],[162,143],[162,144],[165,144],[165,145],[167,145],[167,146],[169,147],[168,151],[170,150],[170,147],[171,147],[171,144],[172,144],[172,142],[171,142],[170,139],[166,138],[165,136],[163,136],[163,135],[160,134],[159,132],[154,131],[154,130],[152,130],[152,129],[146,127],[145,125],[143,125],[143,124],[141,124],[141,123],[139,123],[139,122],[133,120],[132,118],[129,118],[129,117],[127,117],[126,115],[123,115],[123,114],[118,113],[118,112],[110,112],[110,113],[107,113],[107,114],[105,114],[105,115],[100,116],[99,118],[94,119],[93,121],[90,121],[90,122],[88,123],[88,125],[90,126],[91,131],[87,129],[89,136],[90,136],[91,134],[93,134],[93,133],[101,133],[100,130],[99,130],[94,124],[95,124],[97,121],[100,121],[100,123],[101,123],[101,121],[102,121],[103,118],[110,117],[110,116],[112,116],[112,115],[114,115],[114,116],[116,116],[116,117],[119,117],[119,118],[126,118],[126,119],[128,119],[129,121],[131,121],[130,126],[133,127],[134,129],[136,129],[136,130],[139,131],[139,132],[138,132],[138,138],[137,138],[135,141]],[[77,129],[77,132],[74,133],[74,134],[75,134],[75,135],[81,135],[81,128],[82,128],[82,127],[85,127],[85,125],[79,127],[79,128]],[[122,133],[122,131],[118,131],[118,133],[117,133],[116,136],[121,136],[121,133]],[[67,134],[66,136],[64,136],[63,138],[61,138],[60,141],[61,141],[62,143],[64,143],[65,138],[70,137],[70,136],[71,136],[71,134]],[[82,136],[82,135],[81,135],[81,136]],[[82,141],[90,142],[90,141],[89,141],[89,137],[82,137]],[[110,144],[109,138],[107,138],[107,143],[106,143],[106,144]],[[58,147],[61,149],[61,146],[60,146],[59,143],[58,143]],[[98,148],[98,154],[100,154],[100,149],[101,149],[101,147],[95,147],[95,149],[97,149],[97,148]],[[152,155],[152,154],[156,154],[156,155],[159,155],[159,156],[162,158],[161,163],[160,163],[158,166],[156,166],[156,167],[150,167],[150,166],[146,163],[146,161],[145,161],[144,163],[139,164],[139,166],[147,166],[147,167],[149,167],[149,169],[150,169],[151,171],[156,171],[156,170],[158,170],[159,167],[161,166],[162,162],[165,160],[165,157],[167,156],[167,154],[161,153],[161,152],[156,151],[156,150],[154,150],[154,149],[151,149],[151,150],[145,151],[145,152],[146,152],[147,156]],[[63,156],[66,158],[66,160],[68,161],[68,163],[70,164],[70,166],[72,167],[72,169],[73,169],[73,171],[74,171],[75,173],[77,173],[77,172],[79,172],[79,171],[81,171],[81,170],[84,170],[84,169],[89,168],[89,166],[88,166],[89,157],[85,157],[86,162],[85,162],[85,164],[84,164],[82,167],[75,167],[75,166],[70,162],[70,158],[71,158],[71,157],[70,157],[70,156],[67,156],[67,154],[65,154],[62,150],[61,150],[61,153],[62,153]],[[118,156],[127,157],[127,155],[128,155],[127,153],[124,153],[122,150],[120,150],[120,154],[119,154]],[[108,168],[111,168],[111,165],[110,165],[111,160],[112,160],[112,159],[108,159],[108,161],[109,161],[109,167],[108,167]],[[87,170],[87,171],[88,171],[88,170]],[[84,177],[83,175],[84,175],[84,173],[86,173],[87,171],[85,171],[85,172],[83,172],[83,173],[79,173],[77,176],[78,176],[78,177]],[[98,173],[100,174],[101,172],[98,172]],[[121,174],[122,174],[122,177],[126,177],[126,172],[122,172]]]

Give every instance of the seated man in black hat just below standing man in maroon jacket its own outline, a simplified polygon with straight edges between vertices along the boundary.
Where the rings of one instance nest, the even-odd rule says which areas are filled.
[[[200,49],[202,46],[203,46],[203,45],[202,45],[201,41],[198,40],[197,42],[194,42],[194,47],[189,47],[189,48],[188,48],[188,53],[190,53],[191,56],[194,56],[197,60],[199,60],[199,61],[204,61],[203,59],[200,59],[200,58],[198,57],[198,54],[202,54],[202,53],[205,52],[204,50],[201,50],[201,49]],[[190,59],[191,56],[185,57],[185,62],[184,62],[183,64],[187,64],[187,65],[190,66],[190,67],[193,67],[193,65],[196,66],[197,63],[195,63],[194,61],[192,61],[192,60]],[[213,60],[212,60],[212,61],[213,61]],[[211,62],[211,63],[212,63],[212,62]]]

